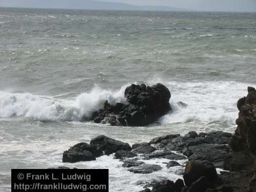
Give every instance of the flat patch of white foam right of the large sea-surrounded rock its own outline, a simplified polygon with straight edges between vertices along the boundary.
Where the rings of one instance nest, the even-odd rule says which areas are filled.
[[[169,82],[172,90],[172,113],[161,118],[162,123],[231,123],[237,117],[237,100],[247,94],[248,84],[239,82]],[[177,101],[188,104],[186,108]]]

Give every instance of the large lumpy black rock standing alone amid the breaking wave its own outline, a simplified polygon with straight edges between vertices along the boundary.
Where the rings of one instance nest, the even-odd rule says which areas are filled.
[[[127,104],[104,104],[92,114],[91,120],[96,123],[110,123],[114,126],[143,126],[155,122],[170,110],[170,92],[161,83],[154,86],[132,84],[124,92]]]

